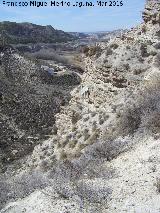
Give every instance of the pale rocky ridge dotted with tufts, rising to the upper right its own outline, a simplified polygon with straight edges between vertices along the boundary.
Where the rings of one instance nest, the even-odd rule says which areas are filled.
[[[158,3],[153,4],[153,8],[155,5],[157,9]],[[85,59],[87,72],[83,75],[82,84],[72,91],[67,108],[56,115],[56,124],[61,126],[56,152],[62,158],[65,155],[71,158],[72,154],[80,156],[88,145],[97,142],[97,138],[103,140],[101,136],[105,129],[115,125],[113,122],[118,110],[136,90],[138,92],[143,87],[144,77],[156,67],[159,54],[156,33],[160,28],[158,21],[153,25],[150,20],[152,15],[146,24],[123,34],[121,38],[85,52],[90,57]],[[62,125],[64,118],[67,126]]]

